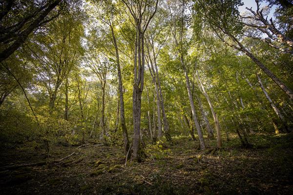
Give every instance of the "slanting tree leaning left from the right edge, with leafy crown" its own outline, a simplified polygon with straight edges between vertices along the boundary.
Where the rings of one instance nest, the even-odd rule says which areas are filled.
[[[218,5],[221,5],[220,9]],[[247,55],[290,99],[293,99],[293,91],[237,39],[243,26],[237,9],[239,5],[242,5],[241,0],[217,0],[212,3],[208,0],[198,0],[194,4],[194,10],[203,20],[207,21],[219,39]],[[218,19],[217,16],[221,17]]]

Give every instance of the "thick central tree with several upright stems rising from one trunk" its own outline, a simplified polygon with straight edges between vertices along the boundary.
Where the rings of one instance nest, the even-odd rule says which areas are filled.
[[[154,17],[158,0],[122,0],[127,6],[136,28],[134,50],[134,83],[133,83],[133,142],[132,159],[140,160],[141,96],[144,89],[145,71],[145,33],[150,20]]]

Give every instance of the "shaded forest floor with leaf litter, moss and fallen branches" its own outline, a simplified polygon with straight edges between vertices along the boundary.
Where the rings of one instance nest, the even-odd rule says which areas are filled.
[[[204,151],[189,137],[173,141],[147,145],[148,157],[126,166],[121,147],[98,144],[56,145],[51,159],[75,153],[49,165],[19,168],[12,166],[42,162],[43,150],[1,144],[0,194],[293,195],[293,134],[251,135],[251,148],[232,137],[216,150],[216,140],[207,140]]]

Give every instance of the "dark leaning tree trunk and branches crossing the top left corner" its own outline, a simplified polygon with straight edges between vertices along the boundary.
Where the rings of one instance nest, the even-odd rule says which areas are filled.
[[[21,47],[34,30],[57,18],[62,9],[56,10],[56,7],[62,1],[46,0],[36,3],[34,0],[29,0],[24,3],[19,0],[5,0],[1,3],[0,62]],[[51,15],[54,10],[56,10],[55,14]],[[21,15],[16,14],[18,12]]]

